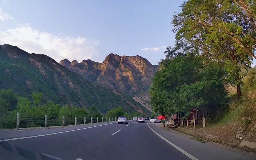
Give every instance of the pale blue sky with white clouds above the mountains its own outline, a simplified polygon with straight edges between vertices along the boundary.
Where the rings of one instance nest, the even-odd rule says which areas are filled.
[[[0,44],[56,61],[102,62],[109,53],[152,64],[174,44],[170,21],[183,0],[0,0]]]

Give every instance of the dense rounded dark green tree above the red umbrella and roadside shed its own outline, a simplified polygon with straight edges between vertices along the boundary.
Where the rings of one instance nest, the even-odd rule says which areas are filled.
[[[160,64],[150,88],[154,110],[160,114],[220,106],[225,101],[224,71],[202,55],[179,55]]]

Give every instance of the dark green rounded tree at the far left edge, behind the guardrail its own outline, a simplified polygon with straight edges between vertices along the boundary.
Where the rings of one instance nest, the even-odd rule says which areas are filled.
[[[12,111],[16,109],[18,103],[18,95],[13,92],[12,89],[1,89],[0,90],[0,99],[4,101],[4,104],[1,104],[6,110]]]

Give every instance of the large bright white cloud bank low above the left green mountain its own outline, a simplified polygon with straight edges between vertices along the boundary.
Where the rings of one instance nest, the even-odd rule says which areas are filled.
[[[64,58],[70,61],[92,59],[98,54],[96,48],[99,42],[85,37],[58,37],[27,25],[0,31],[0,44],[18,46],[29,53],[45,54],[60,62]]]

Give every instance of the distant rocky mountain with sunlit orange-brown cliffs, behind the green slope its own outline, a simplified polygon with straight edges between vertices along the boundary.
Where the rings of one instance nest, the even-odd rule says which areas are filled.
[[[60,64],[91,82],[131,95],[135,101],[152,112],[147,91],[158,70],[158,65],[152,65],[147,59],[141,56],[119,56],[111,53],[102,63],[90,59],[81,63],[64,59]]]

